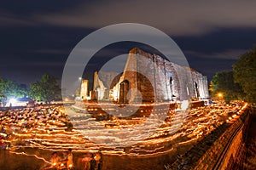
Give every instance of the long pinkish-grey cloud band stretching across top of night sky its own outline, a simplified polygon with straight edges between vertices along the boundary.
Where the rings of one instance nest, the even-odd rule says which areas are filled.
[[[102,27],[121,22],[155,26],[169,35],[198,35],[219,27],[256,26],[255,1],[110,1],[35,15],[55,26]]]

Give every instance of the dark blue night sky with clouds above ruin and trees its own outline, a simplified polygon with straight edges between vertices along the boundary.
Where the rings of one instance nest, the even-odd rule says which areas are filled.
[[[161,2],[1,1],[0,77],[26,84],[45,72],[61,77],[68,55],[81,39],[103,26],[125,22],[166,32],[190,67],[209,79],[217,71],[230,70],[238,56],[255,45],[256,1]],[[137,45],[112,44],[97,55],[108,60]],[[97,62],[101,65],[102,60]]]

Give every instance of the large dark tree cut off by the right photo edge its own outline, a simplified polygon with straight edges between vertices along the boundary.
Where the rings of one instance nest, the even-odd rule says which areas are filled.
[[[256,48],[246,54],[233,65],[234,79],[241,85],[246,94],[246,99],[256,102]]]

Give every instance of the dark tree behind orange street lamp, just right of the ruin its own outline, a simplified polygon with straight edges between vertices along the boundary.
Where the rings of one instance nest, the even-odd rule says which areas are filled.
[[[224,100],[228,103],[230,100],[244,98],[243,90],[240,84],[234,82],[233,74],[233,71],[221,71],[212,78],[212,97],[222,93]]]

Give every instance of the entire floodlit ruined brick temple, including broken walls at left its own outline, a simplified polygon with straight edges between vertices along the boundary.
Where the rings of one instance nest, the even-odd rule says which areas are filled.
[[[129,52],[122,74],[95,72],[89,97],[124,104],[208,98],[206,76],[139,48]]]

